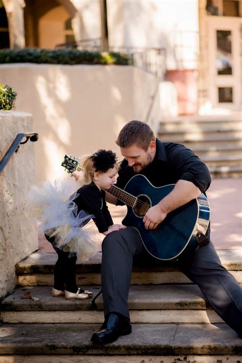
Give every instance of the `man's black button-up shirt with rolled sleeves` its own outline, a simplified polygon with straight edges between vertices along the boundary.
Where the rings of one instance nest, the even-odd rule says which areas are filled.
[[[123,160],[118,172],[116,186],[124,189],[128,181],[137,173]],[[211,177],[207,166],[193,151],[184,145],[162,143],[156,139],[156,155],[153,162],[139,174],[146,176],[155,187],[176,184],[178,180],[188,180],[204,193]],[[118,205],[123,203],[118,201]]]

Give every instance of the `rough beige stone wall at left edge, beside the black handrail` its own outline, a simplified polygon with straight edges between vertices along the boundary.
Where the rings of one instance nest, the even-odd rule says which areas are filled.
[[[32,115],[0,111],[0,160],[18,133],[31,131]],[[28,141],[0,173],[0,298],[16,286],[15,264],[38,247],[36,223],[26,215],[26,197],[34,183],[34,143]]]

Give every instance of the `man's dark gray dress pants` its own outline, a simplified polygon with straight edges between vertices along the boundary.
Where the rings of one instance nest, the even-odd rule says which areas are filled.
[[[146,248],[137,230],[127,227],[106,236],[102,251],[104,314],[116,311],[129,317],[133,257],[144,254],[149,258]],[[199,247],[189,258],[181,259],[179,265],[181,271],[200,287],[216,313],[242,337],[242,288],[221,265],[213,244]]]

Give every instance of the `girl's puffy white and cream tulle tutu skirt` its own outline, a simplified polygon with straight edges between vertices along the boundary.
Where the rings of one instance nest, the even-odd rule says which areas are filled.
[[[77,183],[65,178],[42,183],[31,188],[28,199],[30,214],[40,222],[40,231],[54,237],[54,247],[77,255],[79,261],[87,261],[99,251],[99,238],[95,225],[89,222],[94,215],[81,210],[76,203]],[[88,223],[89,222],[89,223]]]

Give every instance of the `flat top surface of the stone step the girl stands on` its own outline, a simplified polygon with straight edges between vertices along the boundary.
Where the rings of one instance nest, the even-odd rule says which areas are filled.
[[[82,286],[97,294],[100,286]],[[90,310],[90,300],[65,300],[53,298],[50,286],[20,287],[4,299],[0,305],[2,311],[37,311],[37,310]],[[22,299],[29,292],[32,298]],[[130,309],[206,309],[205,298],[197,285],[132,285],[129,291]],[[96,300],[99,310],[103,309],[102,294]]]

